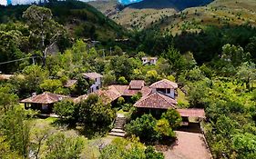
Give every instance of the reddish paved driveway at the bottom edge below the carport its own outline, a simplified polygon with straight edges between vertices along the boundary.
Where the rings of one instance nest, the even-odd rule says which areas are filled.
[[[178,142],[165,154],[166,159],[211,159],[204,135],[176,131]]]

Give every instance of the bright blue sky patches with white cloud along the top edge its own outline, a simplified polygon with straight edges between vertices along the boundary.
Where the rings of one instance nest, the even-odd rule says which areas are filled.
[[[33,2],[38,2],[39,0],[8,0],[8,1],[12,2],[13,5],[17,5],[17,4],[31,4]],[[81,1],[87,2],[91,0],[81,0]],[[123,5],[128,5],[128,4],[132,4],[140,1],[143,1],[143,0],[118,0],[118,2]],[[0,5],[7,5],[7,0],[0,0]]]

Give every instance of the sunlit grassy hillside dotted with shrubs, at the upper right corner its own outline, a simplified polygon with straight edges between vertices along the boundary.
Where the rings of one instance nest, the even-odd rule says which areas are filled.
[[[207,25],[256,25],[254,0],[216,0],[210,5],[185,9],[155,24],[172,34],[200,31]]]

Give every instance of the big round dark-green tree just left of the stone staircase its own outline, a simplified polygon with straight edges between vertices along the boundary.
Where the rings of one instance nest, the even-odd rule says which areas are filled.
[[[97,94],[89,94],[87,99],[79,103],[79,123],[84,124],[86,129],[96,132],[108,130],[116,114],[110,104],[103,104]]]

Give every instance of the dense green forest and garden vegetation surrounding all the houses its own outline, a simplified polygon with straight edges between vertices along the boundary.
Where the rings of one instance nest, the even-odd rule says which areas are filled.
[[[171,35],[158,26],[128,31],[77,1],[0,9],[0,71],[12,75],[0,78],[0,158],[164,158],[154,145],[175,141],[181,117],[174,110],[159,118],[136,114],[140,94],[118,98],[116,106],[95,94],[79,103],[64,100],[54,105],[58,119],[41,119],[40,112],[19,103],[33,93],[87,94],[90,82],[81,76],[87,72],[103,75],[104,87],[131,80],[178,83],[184,94],[178,106],[205,110],[203,129],[213,158],[255,158],[251,25],[207,25],[197,33]],[[144,56],[157,56],[157,65],[142,65]],[[67,88],[71,79],[77,84]],[[120,110],[128,115],[128,137],[106,145]]]

